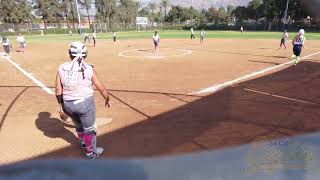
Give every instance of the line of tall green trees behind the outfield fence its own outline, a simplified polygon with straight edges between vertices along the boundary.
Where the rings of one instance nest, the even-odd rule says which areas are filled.
[[[288,15],[293,20],[306,18],[305,0],[289,0]],[[313,0],[312,0],[313,1]],[[284,15],[287,0],[252,0],[247,6],[196,10],[193,7],[174,6],[170,0],[150,1],[142,4],[136,0],[78,0],[91,22],[90,8],[95,6],[96,22],[134,23],[136,16],[147,16],[150,21],[228,23],[236,18],[244,20],[266,19],[267,23],[279,22]],[[306,2],[306,1],[305,1]],[[316,11],[317,12],[317,11]],[[41,19],[39,19],[41,18]],[[68,26],[77,22],[75,0],[0,0],[0,22],[26,23],[66,22]]]

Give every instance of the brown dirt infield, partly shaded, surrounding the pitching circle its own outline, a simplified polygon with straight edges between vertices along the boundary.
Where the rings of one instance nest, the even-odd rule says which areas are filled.
[[[29,44],[12,61],[53,89],[69,42]],[[180,154],[320,130],[320,54],[213,94],[195,94],[289,61],[291,47],[275,40],[99,41],[92,63],[111,95],[111,108],[95,93],[103,158]],[[303,56],[320,51],[308,41]],[[125,56],[124,56],[125,55]],[[58,119],[55,96],[0,58],[0,164],[28,159],[83,158],[71,124]]]

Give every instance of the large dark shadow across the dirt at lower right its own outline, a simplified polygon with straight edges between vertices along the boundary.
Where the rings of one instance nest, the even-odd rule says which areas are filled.
[[[231,147],[259,136],[274,139],[316,132],[319,88],[320,64],[302,62],[103,134],[98,144],[106,150],[104,157],[159,156]],[[57,128],[53,134],[63,129],[51,128]],[[66,141],[76,143],[65,133]],[[37,158],[78,157],[79,150],[71,146]]]

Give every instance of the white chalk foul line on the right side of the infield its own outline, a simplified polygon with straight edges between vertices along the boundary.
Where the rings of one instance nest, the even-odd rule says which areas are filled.
[[[316,52],[316,53],[313,53],[313,54],[309,54],[307,56],[304,56],[301,59],[306,59],[306,58],[309,58],[309,57],[317,55],[317,54],[320,54],[320,51]],[[273,67],[262,69],[260,71],[256,71],[256,72],[253,72],[253,73],[250,73],[250,74],[246,74],[246,75],[244,75],[242,77],[239,77],[237,79],[234,79],[234,80],[231,80],[231,81],[227,81],[227,82],[224,82],[222,84],[214,85],[214,86],[208,87],[206,89],[203,89],[203,90],[200,90],[200,91],[197,91],[197,92],[193,92],[191,94],[214,93],[214,92],[216,92],[216,91],[218,91],[218,90],[220,90],[222,88],[225,88],[225,87],[231,86],[231,85],[233,85],[235,83],[250,79],[250,78],[255,77],[257,75],[264,74],[264,73],[266,73],[268,71],[272,71],[274,69],[278,69],[278,68],[280,68],[282,66],[286,66],[286,65],[291,64],[293,62],[295,62],[295,61],[291,60],[291,61],[288,61],[288,62],[283,63],[283,64],[279,64],[279,65],[276,65],[276,66],[273,66]]]

